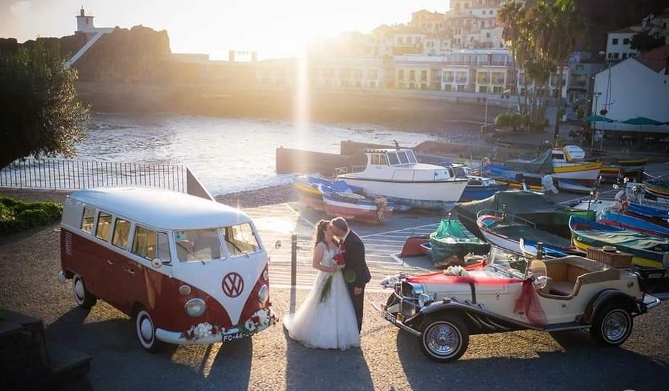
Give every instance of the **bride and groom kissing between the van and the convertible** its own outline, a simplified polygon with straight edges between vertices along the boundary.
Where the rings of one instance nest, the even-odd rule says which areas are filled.
[[[316,281],[305,302],[283,325],[290,338],[310,348],[360,346],[364,286],[372,278],[364,244],[344,218],[320,220],[315,231]]]

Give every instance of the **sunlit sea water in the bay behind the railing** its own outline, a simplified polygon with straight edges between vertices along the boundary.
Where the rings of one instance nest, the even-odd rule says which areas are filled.
[[[414,146],[436,139],[365,124],[307,124],[175,114],[93,114],[88,138],[75,159],[147,164],[184,164],[214,195],[293,181],[275,172],[276,149],[339,153],[342,140]]]

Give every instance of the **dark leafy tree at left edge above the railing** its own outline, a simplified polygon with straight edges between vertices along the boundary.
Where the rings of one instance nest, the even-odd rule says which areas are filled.
[[[36,43],[0,56],[0,168],[26,156],[72,156],[88,106],[58,47]]]

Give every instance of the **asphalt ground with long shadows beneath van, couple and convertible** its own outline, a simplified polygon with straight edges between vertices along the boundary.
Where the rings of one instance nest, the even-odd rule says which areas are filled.
[[[636,318],[631,338],[613,349],[594,346],[586,331],[518,331],[473,336],[458,362],[437,364],[368,304],[359,349],[305,348],[279,324],[246,341],[150,355],[120,311],[102,301],[91,311],[76,308],[70,285],[56,282],[59,270],[57,224],[0,238],[0,301],[42,318],[49,344],[93,357],[88,377],[66,389],[664,390],[669,380],[667,303]],[[297,290],[298,305],[306,294]],[[288,311],[288,289],[272,289],[270,299],[278,314]]]

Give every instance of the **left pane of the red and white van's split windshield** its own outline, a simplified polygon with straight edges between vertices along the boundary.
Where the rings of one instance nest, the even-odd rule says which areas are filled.
[[[218,230],[181,230],[174,231],[174,243],[177,245],[179,262],[210,261],[222,259],[221,241]]]

